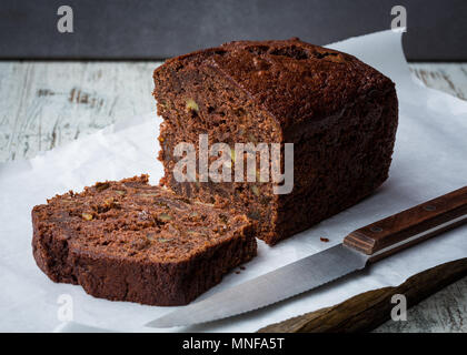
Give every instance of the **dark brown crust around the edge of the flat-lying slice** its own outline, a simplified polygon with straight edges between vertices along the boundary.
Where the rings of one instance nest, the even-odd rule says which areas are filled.
[[[108,191],[122,189],[120,186],[125,182],[135,183],[136,190],[148,186],[147,176],[141,176],[109,182]],[[218,241],[215,232],[211,234],[213,240],[203,244],[195,239],[195,252],[180,247],[178,254],[176,247],[176,252],[169,255],[151,255],[149,250],[133,253],[131,248],[123,246],[120,250],[118,245],[108,248],[100,244],[95,245],[92,236],[101,233],[105,237],[112,237],[115,234],[101,230],[99,221],[95,221],[95,226],[88,227],[90,221],[81,221],[80,217],[70,215],[69,211],[80,211],[77,205],[82,202],[97,203],[101,196],[96,186],[99,184],[87,187],[81,196],[72,192],[56,196],[47,205],[32,210],[33,256],[38,266],[54,282],[79,284],[87,293],[111,301],[160,306],[183,305],[219,283],[229,270],[256,255],[251,224],[241,215],[229,215],[232,227],[219,236]],[[156,186],[151,189],[161,190]],[[127,203],[132,203],[131,193],[135,190],[128,191]],[[73,201],[72,210],[68,205],[70,196],[80,199]],[[171,199],[171,193],[163,192],[163,196]],[[123,205],[126,202],[119,203]],[[179,200],[177,203],[180,203]],[[221,211],[210,206],[197,209],[196,211],[212,214]],[[109,215],[106,217],[111,219]],[[138,231],[147,229],[146,225],[135,227]],[[137,245],[137,231],[130,231],[125,235],[128,242],[132,242],[131,246]],[[136,248],[141,250],[138,245]]]

